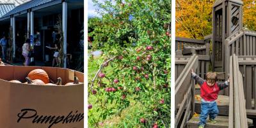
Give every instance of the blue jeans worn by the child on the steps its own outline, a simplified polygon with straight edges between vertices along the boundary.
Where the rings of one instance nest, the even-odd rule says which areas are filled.
[[[207,102],[201,102],[201,115],[200,115],[200,122],[199,125],[205,125],[205,121],[207,116],[209,115],[211,119],[216,118],[218,115],[219,110],[217,107],[216,102],[207,103]]]

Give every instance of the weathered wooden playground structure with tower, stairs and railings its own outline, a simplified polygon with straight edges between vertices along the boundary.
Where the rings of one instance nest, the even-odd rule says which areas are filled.
[[[218,123],[205,127],[256,127],[256,32],[243,29],[242,19],[241,0],[216,0],[211,35],[204,40],[176,37],[175,127],[198,127],[200,86],[191,79],[191,68],[202,78],[209,71],[217,73],[218,81],[230,77],[216,100]]]

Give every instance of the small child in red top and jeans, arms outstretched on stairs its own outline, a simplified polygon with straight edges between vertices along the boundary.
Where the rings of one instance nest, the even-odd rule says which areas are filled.
[[[201,115],[198,128],[204,128],[205,120],[209,115],[209,121],[216,123],[216,116],[219,113],[217,108],[216,99],[220,90],[227,88],[229,85],[229,79],[225,83],[218,83],[216,72],[208,72],[206,74],[206,80],[197,76],[193,69],[191,70],[192,77],[200,84],[200,96],[201,99]]]

